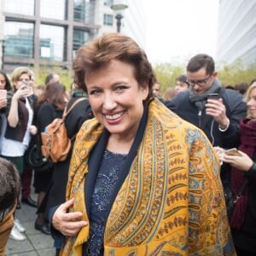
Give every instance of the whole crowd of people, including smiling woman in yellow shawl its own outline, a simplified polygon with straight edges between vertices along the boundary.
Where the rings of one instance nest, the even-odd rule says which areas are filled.
[[[36,94],[31,69],[0,72],[0,252],[26,239],[22,201],[56,255],[256,255],[255,80],[226,88],[199,54],[162,93],[119,33],[80,47],[73,72],[70,95],[55,73]],[[67,159],[35,171],[26,153],[79,98]]]

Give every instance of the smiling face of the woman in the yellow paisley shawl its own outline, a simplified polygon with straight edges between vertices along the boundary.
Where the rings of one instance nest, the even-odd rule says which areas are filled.
[[[96,119],[111,134],[135,137],[143,115],[143,100],[148,84],[139,86],[134,67],[122,61],[110,61],[84,80]]]

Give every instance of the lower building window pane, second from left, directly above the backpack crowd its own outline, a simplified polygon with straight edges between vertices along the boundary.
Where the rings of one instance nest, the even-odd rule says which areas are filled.
[[[40,58],[48,61],[65,61],[65,29],[62,26],[40,26]]]

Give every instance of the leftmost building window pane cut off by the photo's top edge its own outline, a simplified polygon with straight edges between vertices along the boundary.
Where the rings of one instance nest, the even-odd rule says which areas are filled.
[[[20,15],[34,15],[35,0],[4,0],[4,10],[8,13]]]

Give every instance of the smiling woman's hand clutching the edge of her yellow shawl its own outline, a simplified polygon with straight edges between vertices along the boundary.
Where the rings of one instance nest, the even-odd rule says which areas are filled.
[[[82,212],[67,212],[73,206],[73,199],[61,204],[52,218],[52,224],[56,230],[61,231],[64,236],[76,236],[87,222],[80,220]]]

